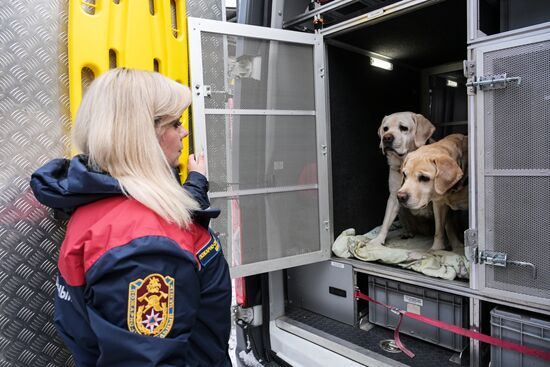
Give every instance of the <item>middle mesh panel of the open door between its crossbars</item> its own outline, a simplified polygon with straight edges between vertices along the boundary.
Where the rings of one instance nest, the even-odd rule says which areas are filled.
[[[206,131],[211,193],[318,182],[314,116],[207,115]]]

